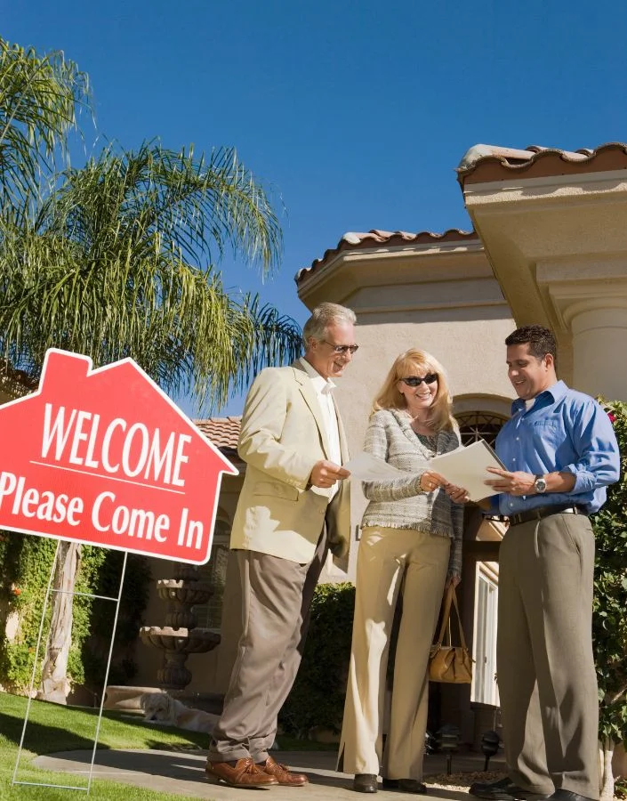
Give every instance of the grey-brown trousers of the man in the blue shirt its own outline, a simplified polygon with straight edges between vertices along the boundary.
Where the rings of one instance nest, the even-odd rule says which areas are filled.
[[[499,555],[497,669],[505,756],[523,788],[599,798],[591,641],[594,536],[587,517],[512,527]]]

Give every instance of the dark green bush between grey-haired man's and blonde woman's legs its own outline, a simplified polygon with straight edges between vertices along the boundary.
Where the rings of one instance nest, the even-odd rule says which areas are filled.
[[[352,584],[316,587],[301,669],[279,716],[286,733],[306,737],[314,726],[340,732],[354,609]]]

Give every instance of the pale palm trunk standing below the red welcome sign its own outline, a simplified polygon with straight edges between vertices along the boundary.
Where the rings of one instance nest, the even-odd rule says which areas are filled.
[[[68,702],[68,655],[72,643],[72,609],[74,585],[80,548],[76,542],[62,540],[59,546],[57,567],[54,573],[52,619],[50,636],[42,668],[42,685],[37,692],[39,700]],[[59,592],[61,591],[61,592]]]

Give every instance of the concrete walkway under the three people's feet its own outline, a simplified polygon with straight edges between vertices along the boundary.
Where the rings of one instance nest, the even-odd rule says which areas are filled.
[[[181,796],[213,798],[215,801],[252,801],[252,796],[268,794],[269,801],[356,801],[358,796],[351,788],[352,776],[334,770],[337,755],[334,751],[291,751],[273,752],[277,762],[290,765],[293,770],[309,775],[309,785],[303,788],[273,787],[269,789],[234,789],[226,785],[210,784],[205,781],[206,752],[200,750],[157,751],[157,750],[99,750],[94,765],[94,778],[109,779],[133,784],[138,787],[158,790]],[[86,781],[89,771],[91,751],[68,751],[62,754],[38,756],[34,760],[39,768],[49,771],[74,773],[76,783]],[[441,755],[425,757],[425,776],[445,773],[446,760]],[[490,760],[490,768],[502,770],[504,766],[499,755]],[[480,754],[455,755],[453,770],[457,772],[476,772],[483,769],[483,756]],[[427,778],[427,783],[429,779]],[[409,801],[415,795],[382,790],[385,797],[398,801]],[[469,801],[468,794],[461,789],[431,787],[429,795],[450,801]]]

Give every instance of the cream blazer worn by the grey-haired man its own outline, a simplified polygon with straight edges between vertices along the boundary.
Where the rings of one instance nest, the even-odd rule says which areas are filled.
[[[339,413],[337,422],[343,463],[349,451]],[[313,466],[329,458],[329,445],[316,391],[300,363],[266,368],[255,378],[245,402],[237,452],[246,463],[246,473],[231,548],[304,564],[313,558],[326,519],[331,550],[336,556],[348,553],[348,482],[341,482],[330,504],[331,490],[308,486]]]

